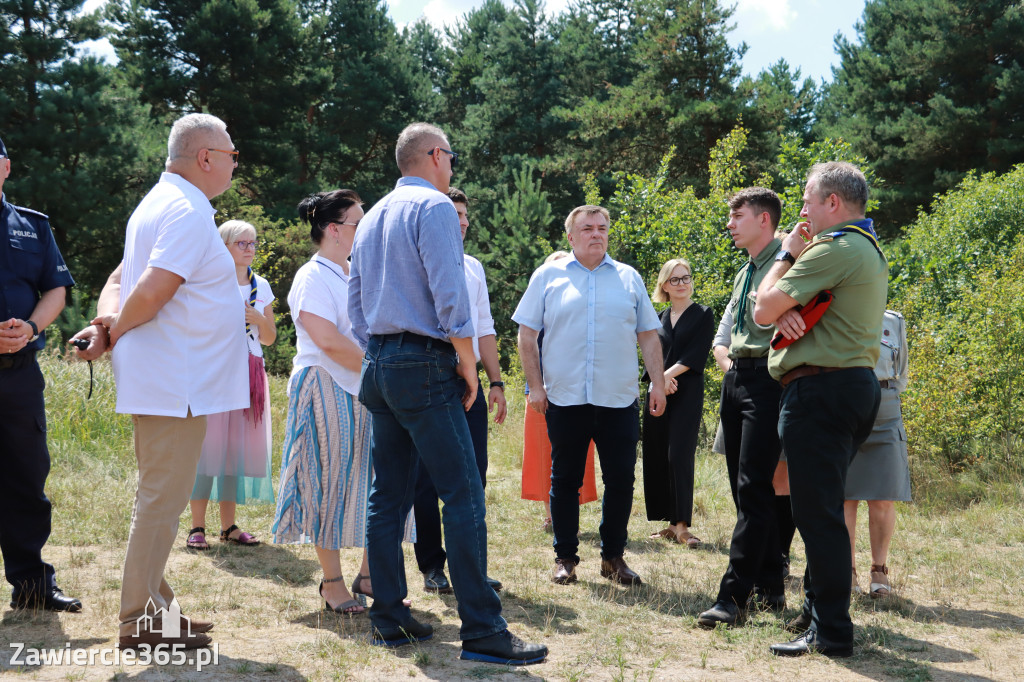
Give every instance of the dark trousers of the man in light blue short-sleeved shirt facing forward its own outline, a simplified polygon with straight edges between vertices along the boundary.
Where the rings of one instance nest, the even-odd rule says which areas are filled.
[[[551,440],[551,526],[555,556],[580,562],[580,486],[591,439],[601,461],[601,557],[614,559],[626,551],[627,525],[633,509],[634,469],[640,439],[637,402],[627,408],[595,404],[557,406],[548,402]]]

